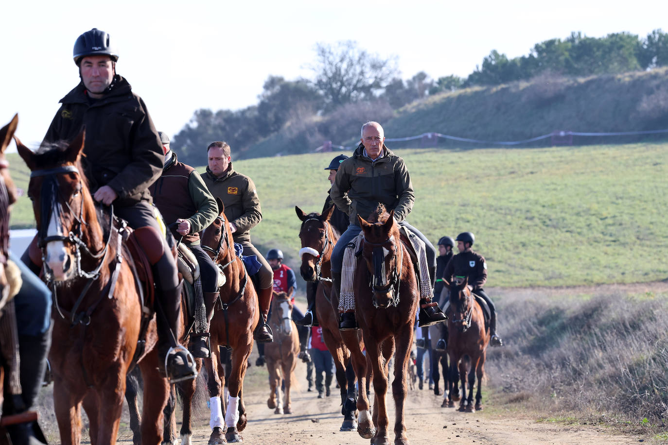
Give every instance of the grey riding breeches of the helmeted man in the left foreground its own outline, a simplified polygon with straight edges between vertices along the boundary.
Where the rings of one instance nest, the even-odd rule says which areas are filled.
[[[128,226],[133,229],[150,226],[154,228],[158,234],[162,233],[156,216],[153,213],[153,208],[146,201],[139,201],[134,205],[128,207],[114,207],[114,213],[118,217],[122,217],[128,221]],[[166,237],[160,237],[162,240],[163,254],[160,260],[154,265],[156,272],[156,282],[161,290],[168,290],[176,288],[178,284],[178,272],[176,270],[176,260],[172,256],[172,248],[174,245],[174,238],[171,232],[167,232]],[[169,240],[168,240],[169,239]]]

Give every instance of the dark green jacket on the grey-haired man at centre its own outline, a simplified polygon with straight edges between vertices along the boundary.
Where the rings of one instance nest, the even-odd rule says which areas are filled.
[[[359,144],[355,153],[339,165],[329,195],[355,226],[359,226],[358,214],[368,219],[379,203],[385,204],[387,211],[394,210],[397,221],[403,221],[415,202],[411,177],[403,159],[385,145],[381,157],[371,161],[364,155],[364,146]]]

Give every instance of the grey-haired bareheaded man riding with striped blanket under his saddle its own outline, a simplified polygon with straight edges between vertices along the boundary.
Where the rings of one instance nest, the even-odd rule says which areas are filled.
[[[341,292],[341,269],[346,246],[361,232],[357,215],[368,218],[379,203],[394,210],[394,217],[426,246],[429,278],[434,288],[436,280],[436,250],[432,243],[405,221],[413,208],[415,193],[408,169],[401,157],[385,146],[383,127],[377,122],[362,125],[360,144],[352,157],[339,166],[331,188],[331,198],[337,207],[350,216],[350,226],[343,232],[334,246],[331,259],[333,288]],[[445,314],[431,298],[420,299],[419,325],[429,326],[447,320]],[[339,329],[357,329],[355,312],[341,313]]]

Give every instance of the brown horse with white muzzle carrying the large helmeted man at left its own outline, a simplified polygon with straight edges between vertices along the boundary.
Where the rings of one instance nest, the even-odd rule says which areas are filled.
[[[61,442],[80,442],[83,404],[91,441],[115,444],[126,373],[142,340],[142,303],[133,260],[122,242],[126,229],[109,215],[100,220],[82,174],[83,140],[82,131],[67,146],[37,153],[16,143],[32,171],[28,195],[41,251],[35,252],[36,260],[43,258],[45,280],[53,289],[49,360]],[[145,389],[142,443],[160,444],[168,384],[158,372],[155,318],[145,340],[137,358]]]

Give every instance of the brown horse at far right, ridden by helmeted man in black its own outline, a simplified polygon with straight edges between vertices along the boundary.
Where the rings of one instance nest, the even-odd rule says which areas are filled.
[[[448,355],[450,356],[450,394],[448,406],[454,407],[458,400],[457,381],[462,381],[460,411],[482,410],[482,377],[485,356],[490,342],[490,333],[485,328],[485,319],[480,304],[468,288],[468,279],[460,284],[444,282],[450,288],[448,308]],[[459,373],[458,373],[459,371]],[[466,397],[466,374],[468,372],[468,398]],[[459,374],[459,375],[458,375]],[[476,405],[473,405],[473,387],[478,377]],[[444,401],[445,405],[445,401]]]

